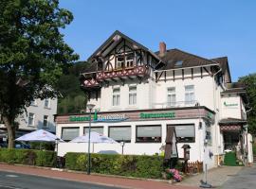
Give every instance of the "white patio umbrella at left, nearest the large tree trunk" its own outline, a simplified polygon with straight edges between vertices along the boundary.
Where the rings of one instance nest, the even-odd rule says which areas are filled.
[[[55,142],[56,140],[59,140],[59,138],[55,134],[52,134],[44,129],[38,129],[15,140],[24,142]],[[62,139],[60,139],[60,141],[64,142]]]

